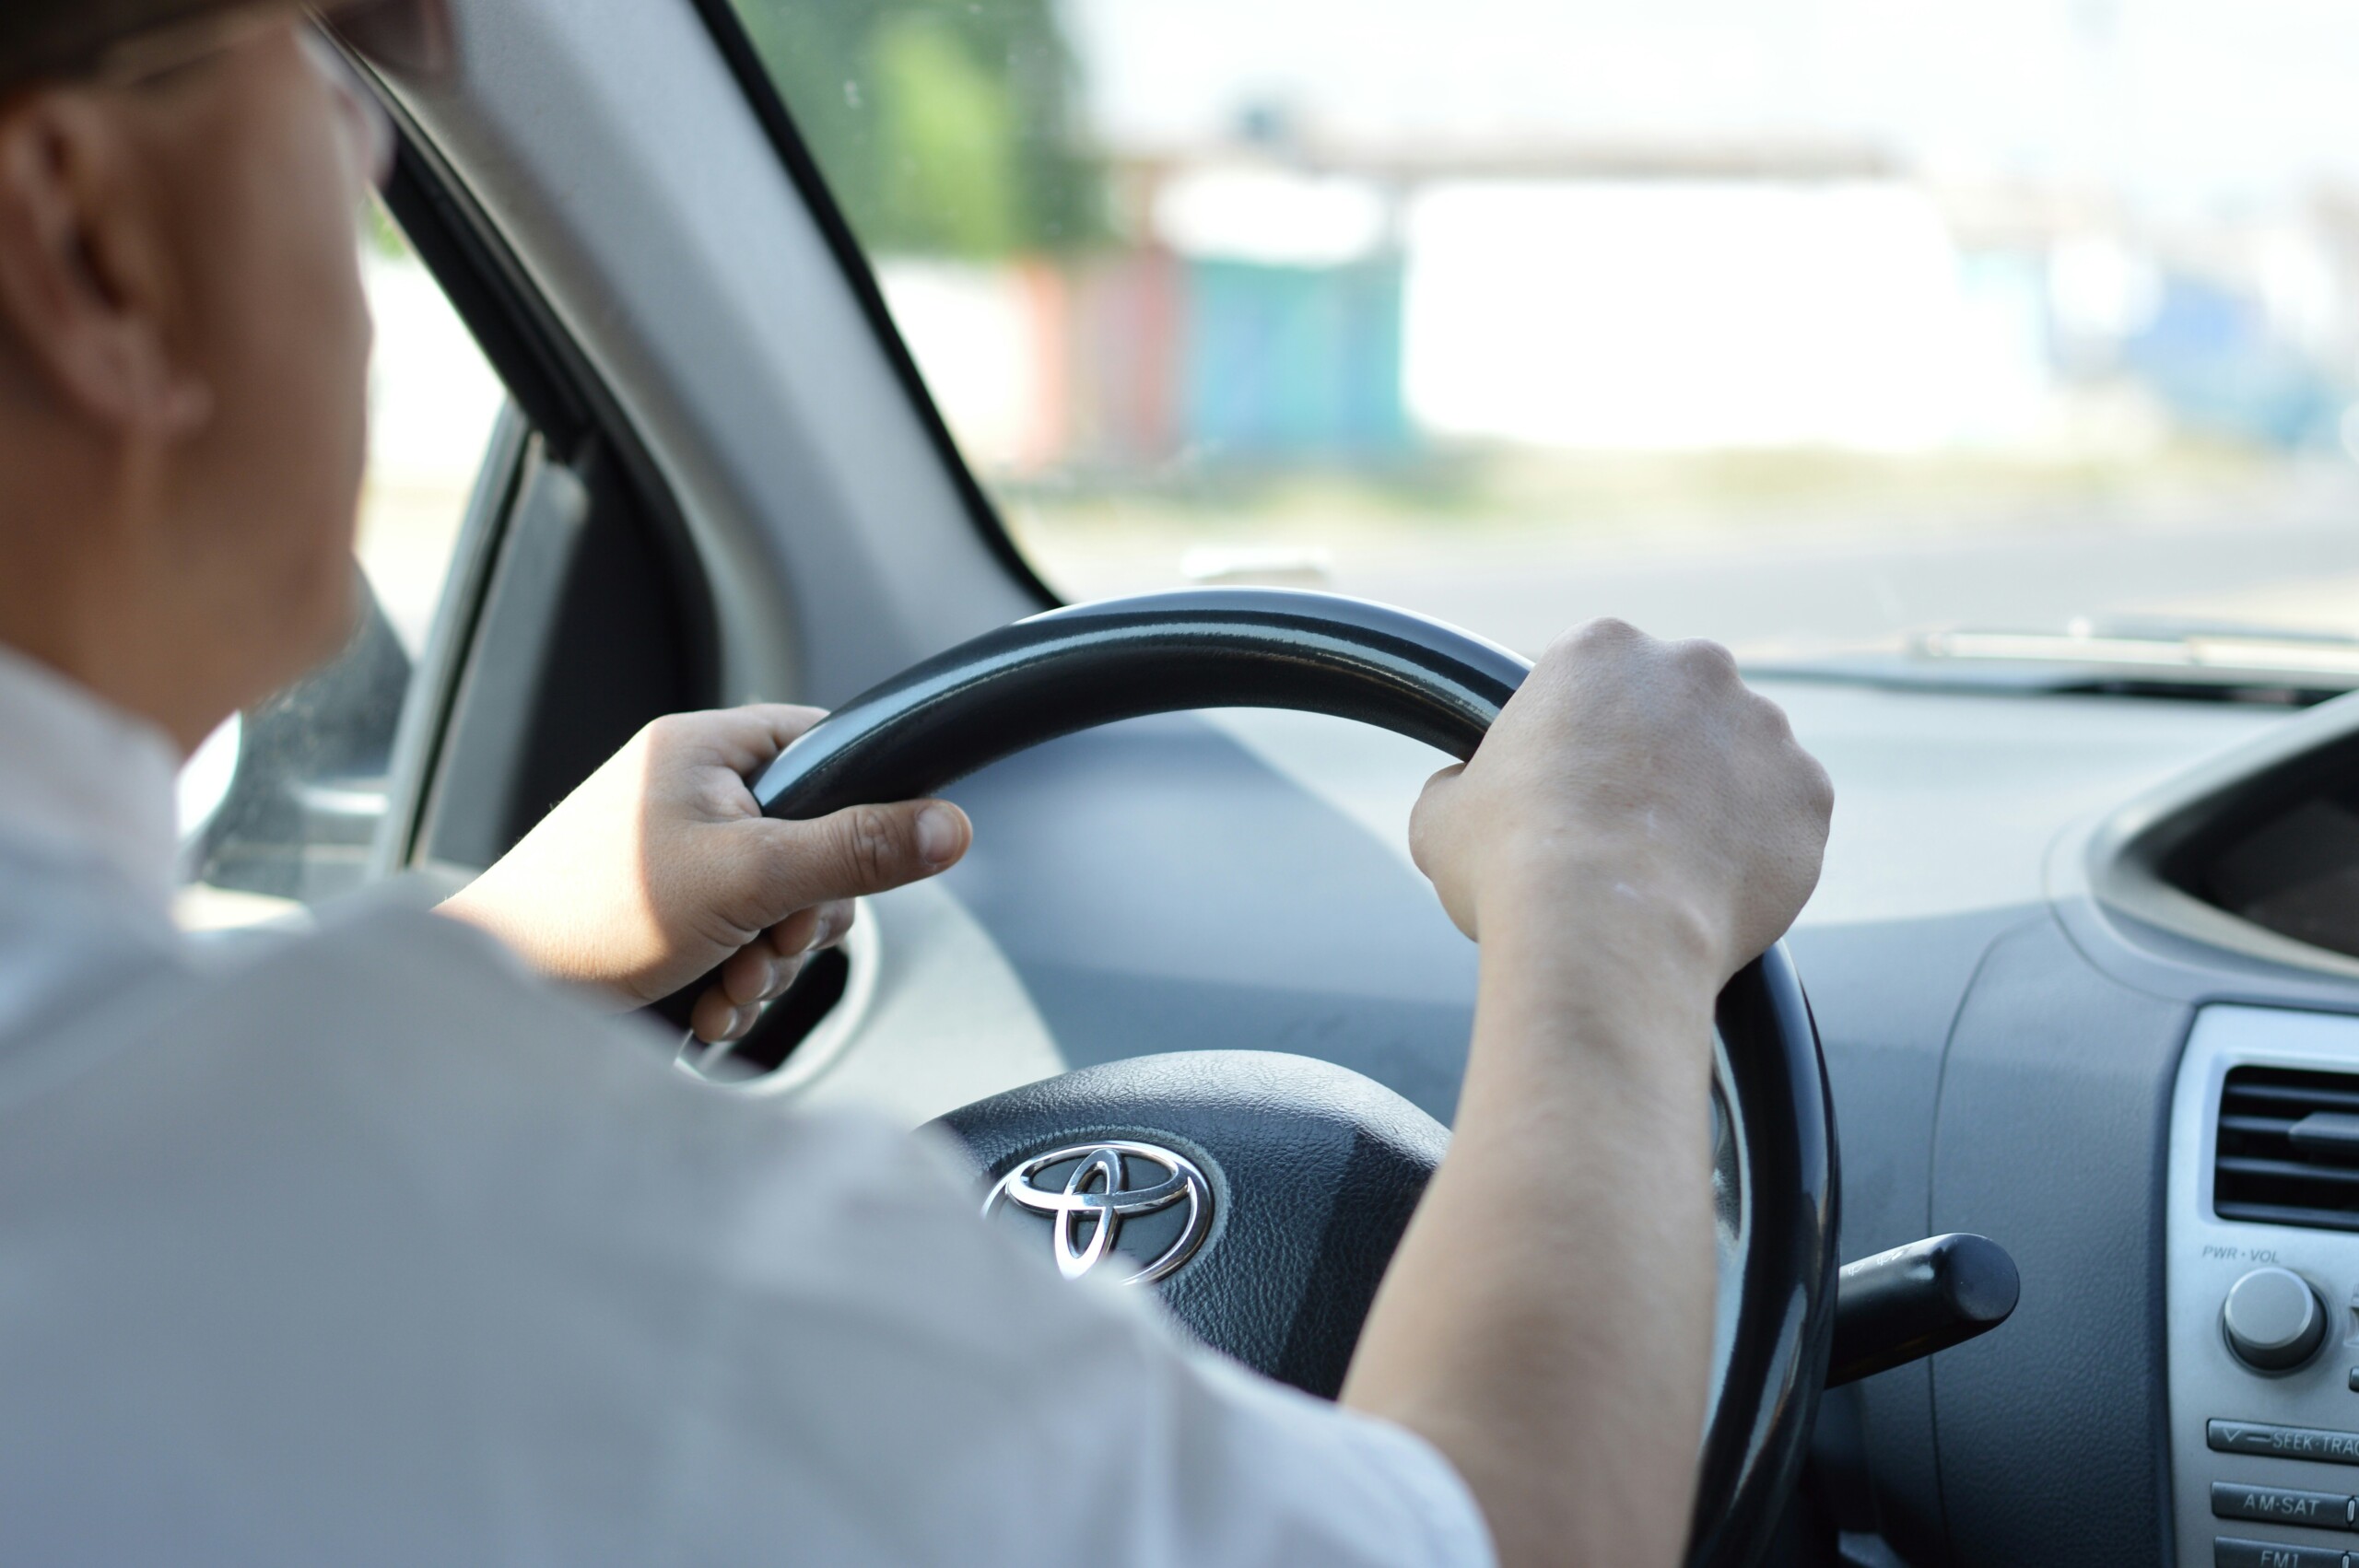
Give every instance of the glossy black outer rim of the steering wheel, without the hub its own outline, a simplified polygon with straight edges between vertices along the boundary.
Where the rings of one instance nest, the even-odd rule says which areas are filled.
[[[1526,674],[1522,658],[1479,637],[1335,594],[1113,599],[1033,615],[915,665],[816,724],[753,788],[769,816],[826,816],[932,795],[1083,729],[1194,707],[1323,712],[1465,759]],[[1741,1568],[1767,1544],[1824,1386],[1838,1264],[1833,1101],[1783,948],[1727,986],[1717,1026],[1746,1245],[1736,1278],[1722,1266],[1722,1313],[1734,1323],[1715,1351],[1691,1568]],[[946,1120],[974,1141],[991,1108]]]

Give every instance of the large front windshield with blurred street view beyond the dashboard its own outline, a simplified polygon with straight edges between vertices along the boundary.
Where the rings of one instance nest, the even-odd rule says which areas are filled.
[[[2354,7],[736,2],[1071,599],[2359,634]]]

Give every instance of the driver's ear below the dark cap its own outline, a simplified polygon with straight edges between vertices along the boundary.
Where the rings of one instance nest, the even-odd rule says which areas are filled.
[[[73,413],[172,441],[212,394],[172,351],[163,215],[125,111],[71,87],[0,108],[0,323]]]

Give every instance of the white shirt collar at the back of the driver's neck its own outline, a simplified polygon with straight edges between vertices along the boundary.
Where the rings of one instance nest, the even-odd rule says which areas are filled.
[[[87,863],[170,915],[177,776],[163,729],[0,644],[0,835]]]

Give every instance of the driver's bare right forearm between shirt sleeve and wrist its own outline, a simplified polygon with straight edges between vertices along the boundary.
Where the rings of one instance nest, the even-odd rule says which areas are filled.
[[[1507,1568],[1675,1568],[1713,1335],[1713,981],[1644,913],[1552,905],[1484,915],[1451,1155],[1345,1403],[1451,1457]]]

